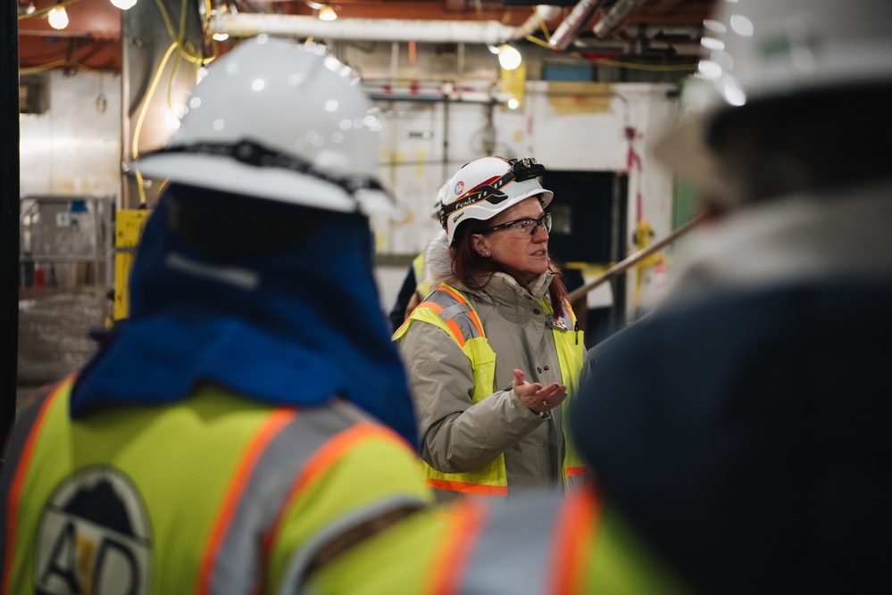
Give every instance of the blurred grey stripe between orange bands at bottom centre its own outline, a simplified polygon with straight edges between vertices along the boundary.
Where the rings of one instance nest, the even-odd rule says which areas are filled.
[[[562,492],[527,492],[493,502],[458,592],[546,593],[554,572],[554,527],[563,501]]]

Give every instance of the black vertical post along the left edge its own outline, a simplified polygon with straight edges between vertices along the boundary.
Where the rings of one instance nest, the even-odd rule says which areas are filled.
[[[19,368],[19,15],[18,4],[4,2],[0,10],[0,445],[15,419]]]

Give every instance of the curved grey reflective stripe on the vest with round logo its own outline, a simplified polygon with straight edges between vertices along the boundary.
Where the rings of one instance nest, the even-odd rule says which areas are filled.
[[[226,535],[213,561],[211,592],[254,592],[263,575],[260,538],[266,533],[307,461],[325,442],[354,424],[367,421],[346,402],[301,411],[263,450],[238,499]]]

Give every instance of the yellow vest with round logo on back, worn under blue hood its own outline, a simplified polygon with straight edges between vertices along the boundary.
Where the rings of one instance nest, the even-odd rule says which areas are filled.
[[[0,592],[295,593],[332,536],[433,500],[412,446],[346,401],[207,386],[71,419],[72,384],[17,421]]]

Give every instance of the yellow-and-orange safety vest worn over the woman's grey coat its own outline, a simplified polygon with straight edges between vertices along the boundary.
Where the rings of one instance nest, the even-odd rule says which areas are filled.
[[[546,297],[541,300],[546,314],[554,310]],[[483,401],[495,390],[496,352],[489,346],[483,325],[480,324],[477,310],[468,299],[446,284],[440,284],[421,302],[402,326],[396,329],[393,338],[398,341],[413,324],[419,320],[438,326],[458,343],[464,354],[471,360],[474,377],[474,391],[471,402]],[[552,326],[557,359],[561,367],[563,384],[567,387],[567,399],[563,404],[569,405],[572,397],[579,392],[579,376],[585,360],[585,344],[582,331],[576,324],[570,303],[565,302],[561,322]],[[566,407],[563,408],[567,410]],[[567,417],[562,416],[563,431],[563,483],[568,492],[575,491],[588,483],[588,466],[570,438]],[[507,496],[508,475],[504,467],[504,453],[487,465],[463,473],[442,473],[426,462],[421,461],[428,485],[435,490],[446,492],[471,493],[481,496]]]

